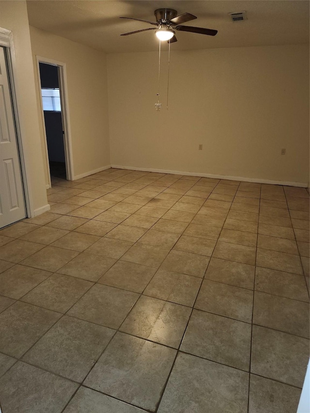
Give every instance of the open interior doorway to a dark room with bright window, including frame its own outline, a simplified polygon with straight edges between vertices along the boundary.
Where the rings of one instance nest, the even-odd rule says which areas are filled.
[[[51,177],[73,179],[65,64],[37,57],[48,185]]]

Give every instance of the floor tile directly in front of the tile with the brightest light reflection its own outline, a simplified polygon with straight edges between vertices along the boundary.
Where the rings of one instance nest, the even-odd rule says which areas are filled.
[[[155,411],[175,354],[169,347],[116,333],[85,384]]]

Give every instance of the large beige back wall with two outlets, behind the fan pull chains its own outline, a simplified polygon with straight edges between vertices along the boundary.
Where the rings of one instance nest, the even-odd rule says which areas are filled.
[[[308,46],[172,50],[168,111],[161,64],[156,112],[158,53],[108,55],[112,165],[309,182]]]

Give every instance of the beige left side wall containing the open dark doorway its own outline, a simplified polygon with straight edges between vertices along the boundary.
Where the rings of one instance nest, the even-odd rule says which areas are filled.
[[[34,27],[30,27],[30,34],[36,71],[36,55],[66,63],[74,176],[109,165],[106,55]],[[36,92],[42,120],[38,82]],[[45,154],[42,121],[40,132]]]

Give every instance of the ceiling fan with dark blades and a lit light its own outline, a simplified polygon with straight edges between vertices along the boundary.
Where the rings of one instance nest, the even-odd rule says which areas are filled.
[[[155,30],[155,34],[159,40],[167,40],[169,43],[177,42],[175,37],[175,31],[190,31],[192,33],[207,34],[209,36],[215,36],[217,30],[204,29],[202,27],[192,27],[192,26],[180,26],[182,23],[187,21],[194,20],[197,17],[191,15],[190,13],[184,13],[182,15],[177,15],[177,11],[173,9],[157,9],[154,12],[156,17],[156,23],[148,20],[136,19],[133,17],[120,17],[131,20],[138,20],[144,23],[152,24],[156,27],[151,27],[149,29],[142,29],[137,31],[130,31],[129,33],[121,34],[121,36],[127,36],[128,34],[140,33],[141,31]]]

